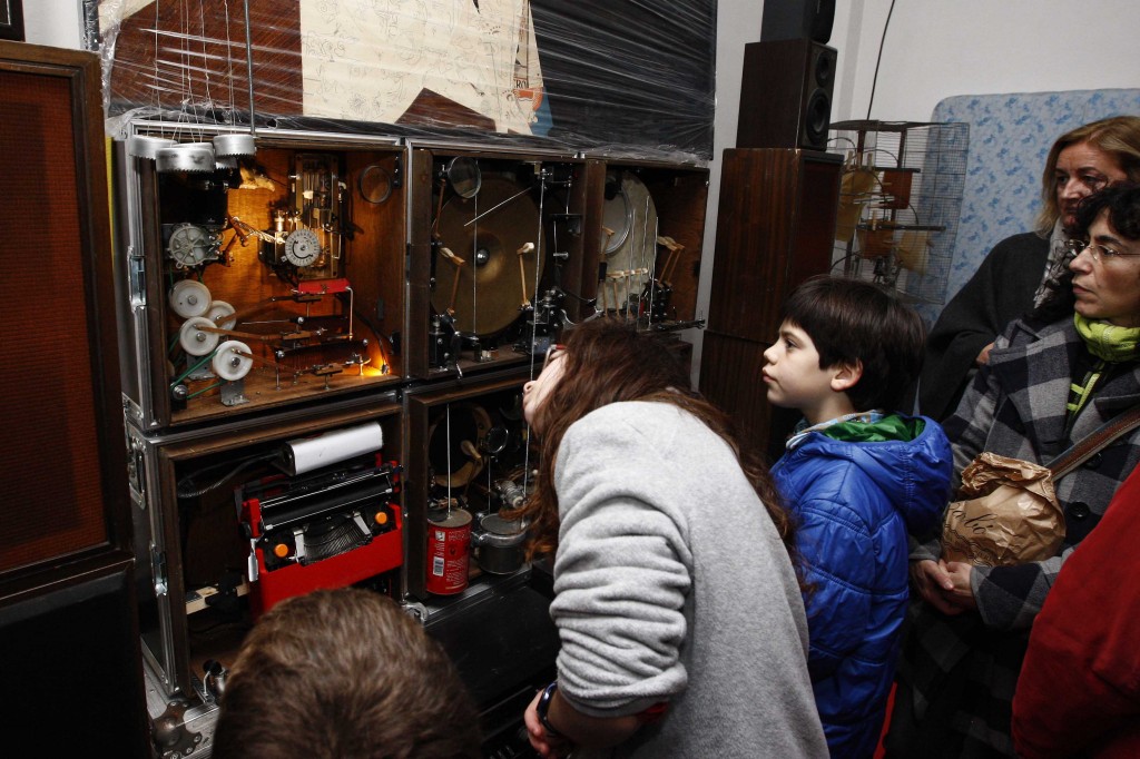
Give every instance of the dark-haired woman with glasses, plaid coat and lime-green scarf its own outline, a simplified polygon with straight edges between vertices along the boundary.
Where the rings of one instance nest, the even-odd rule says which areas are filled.
[[[997,338],[944,425],[959,475],[982,451],[1048,465],[1140,403],[1140,185],[1089,196],[1075,229],[1065,272]],[[922,601],[903,644],[889,757],[1015,756],[1010,709],[1029,627],[1138,463],[1133,429],[1054,483],[1066,536],[1045,561],[971,566],[943,561],[937,539],[912,548]]]

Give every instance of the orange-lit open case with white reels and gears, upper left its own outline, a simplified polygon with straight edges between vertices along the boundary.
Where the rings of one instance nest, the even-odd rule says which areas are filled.
[[[396,140],[267,130],[237,169],[186,172],[165,170],[161,149],[132,154],[179,125],[130,131],[114,162],[132,424],[212,424],[401,382],[407,161]]]

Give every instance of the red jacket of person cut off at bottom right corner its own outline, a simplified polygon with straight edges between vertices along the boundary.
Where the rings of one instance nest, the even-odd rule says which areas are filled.
[[[1013,697],[1026,759],[1140,757],[1140,468],[1061,566]]]

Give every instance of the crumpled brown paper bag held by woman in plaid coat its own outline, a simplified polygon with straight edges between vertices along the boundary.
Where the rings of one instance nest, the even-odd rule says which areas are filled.
[[[942,556],[976,566],[1010,566],[1057,555],[1065,515],[1052,473],[1039,464],[979,454],[962,470],[962,500],[946,507]]]

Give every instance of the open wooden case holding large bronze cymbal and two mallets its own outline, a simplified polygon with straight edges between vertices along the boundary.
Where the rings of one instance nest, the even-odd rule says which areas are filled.
[[[584,162],[427,142],[409,150],[409,375],[462,376],[545,351],[579,313]]]

